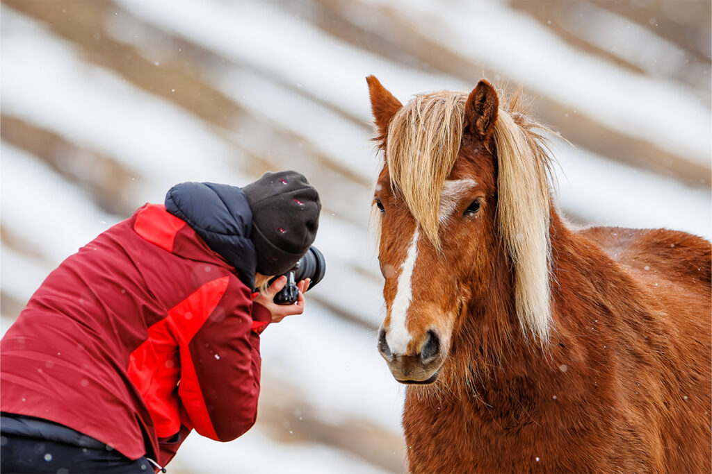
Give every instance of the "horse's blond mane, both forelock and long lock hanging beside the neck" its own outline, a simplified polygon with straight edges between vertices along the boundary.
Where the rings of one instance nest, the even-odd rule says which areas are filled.
[[[501,95],[503,97],[503,95]],[[459,155],[464,92],[417,95],[391,119],[385,143],[391,186],[398,190],[429,241],[438,235],[440,195]],[[503,101],[504,102],[504,101]],[[551,325],[549,131],[525,116],[515,94],[501,103],[493,139],[498,158],[499,233],[515,271],[515,308],[525,336],[543,344]],[[383,147],[384,144],[382,144]]]

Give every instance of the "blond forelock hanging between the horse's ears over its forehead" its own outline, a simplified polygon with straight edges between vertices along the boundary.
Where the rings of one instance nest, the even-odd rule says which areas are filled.
[[[386,163],[391,185],[403,197],[424,235],[440,249],[441,190],[460,151],[467,95],[417,95],[388,127]]]

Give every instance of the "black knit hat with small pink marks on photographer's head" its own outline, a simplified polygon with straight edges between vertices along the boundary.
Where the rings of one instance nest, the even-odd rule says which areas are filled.
[[[295,171],[265,173],[242,188],[252,210],[257,271],[279,275],[308,251],[319,227],[319,194]]]

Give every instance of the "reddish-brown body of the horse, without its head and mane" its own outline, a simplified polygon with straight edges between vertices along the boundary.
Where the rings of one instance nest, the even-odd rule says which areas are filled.
[[[650,232],[656,233],[562,227],[565,237],[553,242],[560,258],[552,343],[545,351],[532,348],[510,317],[507,334],[497,337],[509,341],[501,354],[454,344],[441,375],[447,376],[448,365],[454,379],[460,367],[476,373],[468,383],[452,380],[436,393],[409,387],[403,426],[410,470],[708,472],[710,306],[697,282],[709,279],[709,272],[701,275],[695,266],[699,279],[689,278],[689,285],[661,276],[645,281],[637,274],[656,275],[656,264],[664,273],[660,253],[670,248],[667,241],[651,247],[646,259],[636,252],[631,258],[641,266],[631,271],[591,238],[635,235],[625,246],[635,249]],[[700,254],[708,252],[703,239],[669,233],[679,252],[691,250],[680,245],[685,240]],[[567,251],[560,254],[558,245]],[[616,245],[610,248],[621,255]],[[708,260],[699,268],[709,267]],[[482,322],[502,315],[487,311],[471,309],[461,328],[465,340],[493,339]],[[568,316],[575,314],[587,316]]]

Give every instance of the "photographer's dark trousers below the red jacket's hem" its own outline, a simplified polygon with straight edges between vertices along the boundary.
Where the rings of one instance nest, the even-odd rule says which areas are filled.
[[[18,419],[15,419],[17,421]],[[66,436],[66,426],[50,424],[41,431],[20,426],[2,417],[0,428],[0,472],[94,474],[94,473],[153,473],[145,457],[130,460],[104,443],[83,436]],[[20,421],[26,421],[20,419]],[[35,423],[36,419],[30,419]],[[40,423],[42,423],[40,421]],[[11,426],[9,426],[11,425]],[[40,426],[40,425],[36,425]],[[33,426],[35,427],[35,426]],[[58,427],[58,428],[56,428]],[[58,434],[59,433],[59,434]],[[68,432],[70,435],[72,433]],[[75,439],[79,441],[75,442]]]

